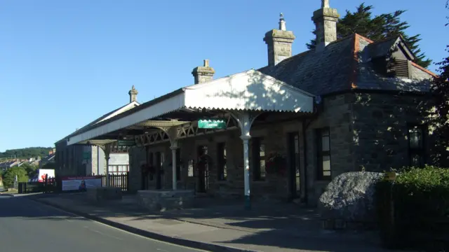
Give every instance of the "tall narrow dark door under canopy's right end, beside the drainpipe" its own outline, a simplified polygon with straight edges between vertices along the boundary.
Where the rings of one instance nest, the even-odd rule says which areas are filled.
[[[300,134],[291,132],[288,134],[288,153],[289,153],[289,181],[290,196],[292,199],[300,197]]]

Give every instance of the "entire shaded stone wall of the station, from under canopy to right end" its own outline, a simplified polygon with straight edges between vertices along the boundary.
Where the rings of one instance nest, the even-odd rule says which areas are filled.
[[[316,118],[281,118],[269,116],[266,120],[253,125],[252,137],[263,137],[266,156],[279,153],[288,158],[289,132],[297,132],[300,136],[300,188],[301,197],[307,193],[308,202],[316,205],[329,181],[319,180],[316,130],[330,128],[330,156],[332,178],[344,172],[382,171],[389,167],[401,167],[408,162],[407,123],[416,123],[420,114],[417,103],[420,97],[397,96],[392,94],[338,94],[325,97],[321,104],[321,112]],[[305,121],[304,121],[305,120]],[[304,138],[302,127],[306,129],[304,156]],[[208,146],[208,153],[213,159],[209,166],[208,195],[215,197],[243,197],[243,144],[239,130],[228,130],[215,134],[207,134],[180,140],[182,160],[181,179],[177,183],[179,189],[198,190],[198,178],[189,176],[189,160],[196,163],[197,148]],[[227,146],[227,179],[217,179],[217,144],[225,142]],[[250,145],[252,141],[250,141]],[[168,142],[156,144],[149,148],[150,152],[165,153],[163,164],[163,186],[172,187],[171,150]],[[250,148],[251,149],[251,148]],[[130,181],[133,188],[140,185],[140,165],[145,162],[145,151],[130,152]],[[307,167],[305,166],[307,158]],[[250,151],[250,167],[253,158]],[[135,172],[138,169],[139,172]],[[196,173],[195,173],[196,175]],[[139,179],[137,179],[139,177]],[[307,179],[307,188],[304,187]],[[154,181],[149,181],[150,189],[155,188]],[[290,199],[290,179],[288,175],[267,174],[264,181],[254,181],[250,171],[250,193],[255,200],[288,200]],[[307,189],[307,190],[306,190]]]

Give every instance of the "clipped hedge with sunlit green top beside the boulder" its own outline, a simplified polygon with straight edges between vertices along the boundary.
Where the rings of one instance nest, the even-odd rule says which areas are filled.
[[[387,246],[449,241],[449,169],[403,169],[396,181],[377,184],[376,204],[380,234]]]

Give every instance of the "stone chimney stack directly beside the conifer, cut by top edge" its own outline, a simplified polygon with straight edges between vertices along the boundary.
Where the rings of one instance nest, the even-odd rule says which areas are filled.
[[[311,20],[316,27],[316,50],[323,50],[326,45],[337,40],[337,22],[340,15],[337,9],[330,8],[329,0],[321,0],[321,9],[314,11]]]

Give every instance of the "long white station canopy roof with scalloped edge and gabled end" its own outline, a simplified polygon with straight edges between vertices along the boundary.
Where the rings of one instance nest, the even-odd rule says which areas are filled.
[[[67,144],[80,144],[98,137],[107,143],[117,140],[107,135],[120,130],[131,134],[135,130],[142,132],[152,126],[169,127],[189,123],[196,120],[189,116],[192,113],[214,116],[232,111],[312,113],[314,95],[251,69],[165,94],[75,132],[67,137]]]

